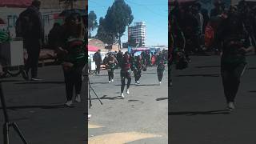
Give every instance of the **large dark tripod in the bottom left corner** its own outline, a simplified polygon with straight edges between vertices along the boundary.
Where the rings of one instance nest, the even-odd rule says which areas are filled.
[[[27,144],[24,136],[22,135],[21,130],[19,130],[18,125],[15,122],[10,122],[8,114],[7,114],[7,108],[6,108],[6,100],[2,92],[2,82],[0,82],[0,98],[2,102],[2,110],[5,117],[5,123],[3,125],[3,143],[9,144],[9,128],[12,126],[14,130],[18,133],[19,137],[22,139],[22,142],[24,144]]]

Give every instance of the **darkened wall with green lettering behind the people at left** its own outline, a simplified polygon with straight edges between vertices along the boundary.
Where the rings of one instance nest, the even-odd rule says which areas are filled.
[[[15,1],[13,1],[15,2]],[[32,2],[32,0],[31,0]],[[47,40],[47,35],[49,34],[50,30],[54,26],[55,22],[63,22],[62,18],[58,17],[58,14],[62,13],[62,10],[70,9],[70,7],[66,7],[63,2],[59,0],[41,0],[41,13],[42,13],[42,22],[44,25],[45,30],[45,39]],[[25,6],[26,7],[26,6]],[[10,31],[10,36],[12,38],[16,37],[15,34],[15,23],[18,19],[20,13],[26,8],[22,6],[19,7],[9,7],[9,6],[0,6],[0,18],[5,22],[4,26],[0,25],[0,29],[4,27],[5,29],[8,28]],[[74,9],[86,9],[87,2],[85,0],[77,0],[73,3]]]

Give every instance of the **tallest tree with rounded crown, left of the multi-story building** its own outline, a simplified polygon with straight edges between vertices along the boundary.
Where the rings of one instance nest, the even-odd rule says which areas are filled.
[[[109,7],[105,16],[105,30],[113,34],[113,38],[118,38],[118,46],[121,48],[121,37],[126,31],[126,26],[133,22],[134,16],[130,6],[124,0],[115,0]]]

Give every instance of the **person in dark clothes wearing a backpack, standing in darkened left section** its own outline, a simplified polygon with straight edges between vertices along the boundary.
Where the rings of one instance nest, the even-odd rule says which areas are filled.
[[[31,80],[37,81],[38,78],[38,58],[42,42],[44,39],[44,28],[42,23],[42,14],[39,12],[41,2],[34,0],[25,11],[20,14],[20,18],[27,18],[26,29],[22,34],[24,46],[27,50],[28,58],[23,71],[23,78],[29,79],[28,72],[31,69]]]

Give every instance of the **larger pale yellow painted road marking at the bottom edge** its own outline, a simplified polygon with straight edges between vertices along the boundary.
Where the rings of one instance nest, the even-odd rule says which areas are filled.
[[[95,136],[94,138],[89,138],[89,144],[125,144],[139,139],[157,137],[161,137],[161,135],[138,132],[103,134]]]

